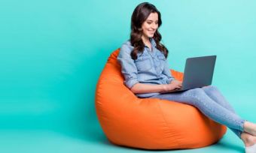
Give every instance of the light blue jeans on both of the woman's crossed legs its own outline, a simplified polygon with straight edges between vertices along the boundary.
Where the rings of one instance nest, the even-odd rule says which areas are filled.
[[[236,115],[233,108],[215,86],[190,89],[184,92],[160,94],[151,98],[176,101],[197,107],[204,115],[219,124],[226,125],[241,138],[245,120],[240,118],[239,115]]]

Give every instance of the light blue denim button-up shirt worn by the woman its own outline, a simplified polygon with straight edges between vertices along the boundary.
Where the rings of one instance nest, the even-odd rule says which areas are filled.
[[[131,57],[133,46],[130,40],[123,43],[117,56],[121,65],[121,71],[124,77],[124,84],[131,89],[136,83],[160,85],[169,84],[175,80],[168,68],[168,62],[153,38],[151,40],[152,50],[148,46],[144,47],[143,52],[138,52],[137,59]],[[148,98],[160,93],[136,94],[139,98]]]

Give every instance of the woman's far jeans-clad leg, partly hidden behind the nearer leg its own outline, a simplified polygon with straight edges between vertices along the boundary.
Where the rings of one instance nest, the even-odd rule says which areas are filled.
[[[236,114],[235,110],[233,110],[233,107],[231,107],[230,103],[224,98],[223,95],[221,95],[221,92],[215,86],[205,86],[202,89],[204,92],[206,92],[206,95],[208,95],[209,98],[212,98],[213,101],[220,104],[225,109],[230,110],[230,112]],[[233,133],[241,138],[242,132],[240,130],[236,130],[233,128],[230,128],[230,130],[232,130]]]

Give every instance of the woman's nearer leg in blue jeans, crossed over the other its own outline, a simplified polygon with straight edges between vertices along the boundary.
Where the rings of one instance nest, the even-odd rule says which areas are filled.
[[[153,96],[152,98],[177,101],[183,104],[190,104],[197,107],[204,115],[212,120],[224,124],[227,127],[243,131],[244,121],[239,115],[221,107],[212,98],[206,95],[203,89],[190,89],[185,92],[175,92]]]

